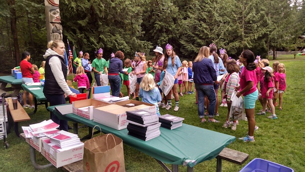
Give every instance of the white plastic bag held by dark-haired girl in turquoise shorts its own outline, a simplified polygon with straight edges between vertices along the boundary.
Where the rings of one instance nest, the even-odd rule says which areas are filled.
[[[248,120],[246,114],[244,113],[244,100],[242,97],[237,97],[237,91],[233,91],[231,96],[231,109],[230,109],[230,118],[237,120]]]

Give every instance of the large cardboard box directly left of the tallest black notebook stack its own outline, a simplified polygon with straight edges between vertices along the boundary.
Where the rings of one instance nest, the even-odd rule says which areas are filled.
[[[116,130],[127,128],[128,122],[126,111],[136,110],[134,107],[123,107],[117,104],[93,108],[93,121]],[[118,107],[118,108],[115,108]],[[119,108],[120,107],[120,108]],[[109,109],[107,109],[109,108]],[[115,108],[115,109],[114,109]]]

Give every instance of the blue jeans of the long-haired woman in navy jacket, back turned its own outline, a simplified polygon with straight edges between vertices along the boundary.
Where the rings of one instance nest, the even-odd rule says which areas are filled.
[[[216,107],[216,93],[213,85],[195,84],[198,94],[198,114],[199,118],[204,118],[204,97],[207,96],[209,104],[209,118],[214,118]]]

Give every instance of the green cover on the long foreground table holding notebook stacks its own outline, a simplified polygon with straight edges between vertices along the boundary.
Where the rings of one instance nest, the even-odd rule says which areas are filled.
[[[48,107],[61,120],[83,123],[89,127],[99,125],[103,133],[112,133],[125,144],[152,156],[164,163],[194,167],[196,164],[215,158],[224,147],[235,141],[234,136],[183,124],[169,130],[160,127],[161,135],[144,141],[128,135],[128,130],[116,130],[75,114],[61,115],[55,106]]]

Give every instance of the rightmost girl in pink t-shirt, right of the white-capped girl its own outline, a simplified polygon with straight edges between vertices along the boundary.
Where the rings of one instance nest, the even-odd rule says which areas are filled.
[[[280,63],[277,66],[277,70],[278,70],[278,72],[276,72],[276,75],[275,75],[275,77],[277,78],[277,82],[275,82],[275,88],[276,88],[276,91],[278,92],[278,96],[279,96],[279,109],[282,110],[283,94],[286,90],[285,65],[283,63]],[[275,99],[275,102],[276,102],[276,99]]]

